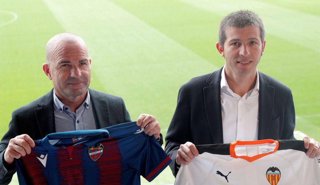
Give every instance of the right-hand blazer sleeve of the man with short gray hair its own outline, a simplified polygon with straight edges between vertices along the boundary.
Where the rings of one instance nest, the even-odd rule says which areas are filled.
[[[286,102],[285,111],[284,111],[284,128],[283,128],[281,139],[284,139],[284,140],[295,139],[293,135],[293,131],[295,128],[295,121],[296,121],[296,116],[294,111],[292,92],[288,88],[287,102]]]

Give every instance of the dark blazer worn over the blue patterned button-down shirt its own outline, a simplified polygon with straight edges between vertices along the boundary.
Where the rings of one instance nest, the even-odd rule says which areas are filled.
[[[89,89],[90,100],[96,117],[96,127],[131,122],[130,115],[121,97]],[[55,133],[53,89],[12,112],[9,130],[0,142],[0,184],[8,184],[16,172],[14,165],[4,165],[4,151],[11,138],[28,134],[33,140],[44,138],[47,134]]]

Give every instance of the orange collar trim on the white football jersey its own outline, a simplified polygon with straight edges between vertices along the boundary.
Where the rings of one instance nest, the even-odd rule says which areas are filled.
[[[258,144],[266,144],[266,143],[276,143],[276,148],[269,153],[264,153],[264,154],[259,154],[253,157],[248,157],[248,156],[237,156],[235,152],[236,145],[258,145]],[[272,139],[268,140],[258,140],[258,141],[236,141],[230,144],[230,156],[233,158],[242,158],[244,160],[247,160],[249,162],[255,161],[257,159],[260,159],[261,157],[264,157],[269,154],[275,153],[279,148],[279,141],[275,141]]]

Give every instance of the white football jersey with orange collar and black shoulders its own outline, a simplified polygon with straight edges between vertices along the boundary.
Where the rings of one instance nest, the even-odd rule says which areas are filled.
[[[181,165],[175,184],[320,184],[320,159],[306,156],[303,141],[236,141],[196,148],[199,156]]]

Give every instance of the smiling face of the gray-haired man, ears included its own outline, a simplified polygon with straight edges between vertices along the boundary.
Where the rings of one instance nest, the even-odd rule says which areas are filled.
[[[260,28],[228,27],[224,48],[217,43],[217,48],[226,60],[226,74],[234,77],[256,74],[256,68],[263,53],[266,41],[261,43]]]

